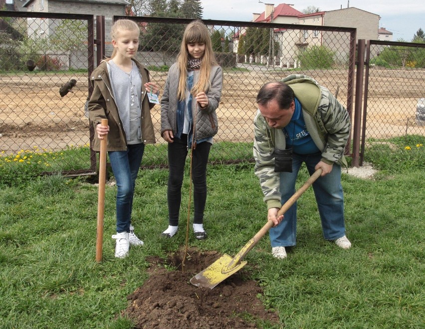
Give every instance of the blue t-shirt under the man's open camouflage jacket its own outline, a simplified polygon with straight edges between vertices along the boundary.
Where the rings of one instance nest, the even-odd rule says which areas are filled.
[[[304,116],[301,110],[301,103],[297,98],[295,101],[295,111],[291,121],[282,128],[286,139],[286,148],[292,147],[292,151],[297,154],[314,154],[320,152],[307,131]]]

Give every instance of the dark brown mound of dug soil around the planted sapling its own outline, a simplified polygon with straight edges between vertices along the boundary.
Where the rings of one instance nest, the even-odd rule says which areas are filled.
[[[135,328],[259,328],[267,322],[278,324],[276,312],[265,310],[257,297],[263,290],[255,281],[246,280],[246,271],[239,270],[213,289],[199,288],[190,279],[221,255],[191,248],[183,272],[184,254],[183,250],[171,255],[168,264],[151,260],[149,279],[127,296],[129,303],[123,316],[135,321]],[[170,271],[165,265],[177,270]]]

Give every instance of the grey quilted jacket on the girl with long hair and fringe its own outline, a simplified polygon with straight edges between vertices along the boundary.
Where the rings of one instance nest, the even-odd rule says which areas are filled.
[[[200,72],[195,71],[194,84],[199,79]],[[164,94],[161,98],[161,135],[164,131],[172,130],[177,134],[177,87],[179,85],[179,67],[174,63],[168,72],[167,81],[164,87]],[[209,104],[201,108],[197,102],[192,103],[192,117],[195,122],[195,140],[214,136],[218,131],[216,108],[221,97],[223,85],[223,71],[220,66],[215,65],[211,69],[210,87],[205,91],[209,99]]]

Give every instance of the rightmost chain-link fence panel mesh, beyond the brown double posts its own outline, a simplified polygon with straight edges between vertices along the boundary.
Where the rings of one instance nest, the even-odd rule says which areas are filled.
[[[363,152],[425,152],[425,44],[370,41]]]

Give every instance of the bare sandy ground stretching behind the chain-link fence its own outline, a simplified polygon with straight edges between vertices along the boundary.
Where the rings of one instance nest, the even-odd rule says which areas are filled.
[[[424,134],[425,127],[415,123],[418,98],[424,97],[425,70],[388,71],[371,69],[369,82],[367,137],[388,138]],[[346,104],[346,71],[297,72],[311,75]],[[255,96],[260,86],[286,76],[287,72],[250,71],[225,73],[220,107],[217,110],[218,141],[252,141]],[[60,97],[59,88],[69,79],[77,80],[72,93]],[[152,72],[161,88],[164,72]],[[35,74],[0,76],[0,150],[7,154],[38,146],[58,150],[67,145],[89,142],[84,103],[88,95],[86,75]],[[354,101],[354,99],[353,99]],[[353,109],[354,111],[354,109]],[[160,143],[160,108],[152,110]]]

